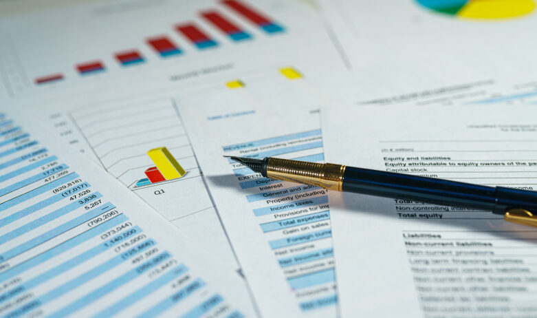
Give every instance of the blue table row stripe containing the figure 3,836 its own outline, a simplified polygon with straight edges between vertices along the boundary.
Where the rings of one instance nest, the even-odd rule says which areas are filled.
[[[94,197],[94,198],[92,198]],[[98,198],[102,198],[102,195],[98,192],[91,193],[90,195],[86,195],[84,198],[80,198],[81,201],[84,201],[80,203],[78,200],[76,202],[73,202],[71,204],[67,204],[66,206],[62,206],[60,209],[57,209],[56,211],[53,211],[51,213],[48,213],[47,215],[43,215],[41,218],[38,218],[32,222],[29,222],[27,224],[24,224],[23,226],[19,227],[18,229],[14,229],[11,232],[8,232],[4,235],[0,235],[0,244],[4,244],[6,242],[9,242],[10,240],[13,240],[15,237],[19,237],[25,233],[28,233],[34,229],[37,229],[39,226],[42,226],[44,224],[47,224],[48,222],[51,222],[53,220],[56,220],[57,218],[61,218],[63,215],[66,215],[69,212],[75,211],[80,206],[83,206],[85,204],[88,204],[89,202],[92,202],[94,200],[97,200]],[[86,199],[89,199],[87,202],[85,202]]]

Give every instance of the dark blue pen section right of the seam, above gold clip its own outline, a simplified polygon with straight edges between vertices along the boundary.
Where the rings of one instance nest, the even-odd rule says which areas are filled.
[[[503,215],[510,209],[525,209],[537,213],[537,192],[496,187],[496,206],[493,212]]]

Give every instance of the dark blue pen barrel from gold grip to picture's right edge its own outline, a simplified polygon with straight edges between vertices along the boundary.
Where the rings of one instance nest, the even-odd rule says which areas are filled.
[[[464,206],[502,215],[507,209],[527,209],[537,213],[535,191],[485,187],[355,167],[345,168],[342,190],[385,198]]]

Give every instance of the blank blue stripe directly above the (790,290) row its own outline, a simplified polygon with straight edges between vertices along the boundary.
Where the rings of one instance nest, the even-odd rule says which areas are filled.
[[[105,204],[105,208],[113,209],[114,206],[112,206],[109,203]],[[56,226],[54,229],[43,233],[39,235],[38,237],[33,238],[32,240],[25,242],[23,244],[20,244],[19,246],[15,246],[14,248],[11,248],[9,251],[4,252],[0,255],[0,261],[4,261],[6,259],[10,259],[11,257],[17,256],[19,254],[24,253],[25,251],[28,251],[30,248],[34,248],[35,246],[38,246],[39,244],[45,242],[46,240],[50,240],[52,237],[56,237],[60,235],[61,233],[67,232],[70,229],[73,229],[74,227],[83,224],[92,218],[95,218],[97,215],[100,215],[101,213],[105,213],[106,211],[102,211],[102,208],[100,209],[93,209],[87,213],[84,213],[83,215],[80,215],[78,218],[74,218],[73,220],[70,220],[68,222],[65,222],[64,224],[61,224],[59,226]]]

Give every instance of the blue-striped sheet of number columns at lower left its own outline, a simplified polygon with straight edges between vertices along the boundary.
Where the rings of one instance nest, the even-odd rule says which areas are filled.
[[[0,114],[2,317],[255,315],[237,273],[28,117]]]

